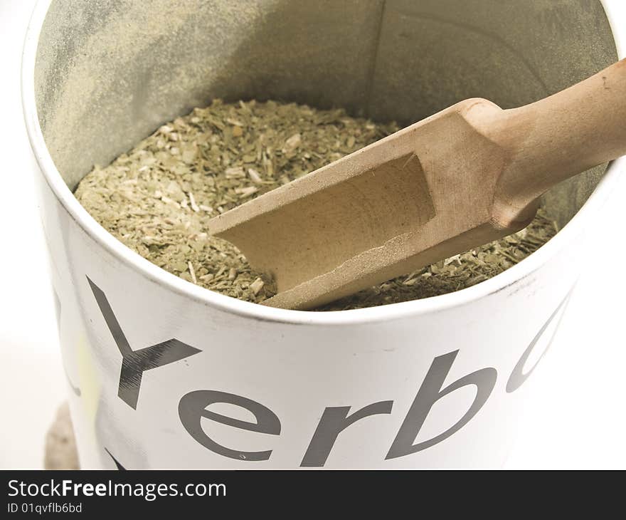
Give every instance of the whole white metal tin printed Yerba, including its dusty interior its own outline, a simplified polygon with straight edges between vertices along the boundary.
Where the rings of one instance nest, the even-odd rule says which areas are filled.
[[[146,4],[44,1],[26,41],[26,123],[83,467],[502,464],[600,189],[495,279],[340,313],[264,308],[177,279],[115,241],[70,189],[216,97],[400,123],[472,96],[529,103],[615,61],[602,4]],[[602,172],[554,190],[548,212],[565,224]]]

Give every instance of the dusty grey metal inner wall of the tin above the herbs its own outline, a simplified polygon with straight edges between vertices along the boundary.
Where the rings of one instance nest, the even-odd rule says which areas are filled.
[[[344,107],[408,124],[470,97],[510,108],[617,59],[593,0],[51,1],[35,90],[73,189],[213,98]],[[565,224],[603,167],[546,194]]]

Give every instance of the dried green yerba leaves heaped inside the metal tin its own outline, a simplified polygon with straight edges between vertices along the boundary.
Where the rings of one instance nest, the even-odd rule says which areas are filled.
[[[75,195],[97,222],[153,264],[212,291],[260,302],[275,293],[207,222],[398,130],[344,110],[214,101],[161,126]],[[540,212],[523,232],[366,289],[320,310],[396,303],[456,291],[509,268],[556,233]]]

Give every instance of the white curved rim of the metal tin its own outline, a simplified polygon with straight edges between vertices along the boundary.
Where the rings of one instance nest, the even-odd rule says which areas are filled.
[[[65,184],[63,177],[61,177],[60,172],[57,170],[48,152],[46,142],[43,139],[35,98],[34,72],[37,46],[41,27],[43,26],[43,21],[46,18],[51,1],[52,0],[38,0],[33,9],[24,41],[21,71],[21,93],[26,131],[28,132],[28,140],[31,142],[31,148],[35,155],[36,162],[43,172],[44,179],[55,194],[55,197],[63,204],[63,207],[80,228],[83,229],[87,236],[109,251],[110,254],[117,257],[117,259],[124,262],[124,264],[134,269],[137,274],[157,284],[162,284],[171,291],[192,298],[198,303],[218,308],[227,313],[277,323],[333,326],[391,321],[406,316],[436,313],[479,300],[491,293],[502,291],[516,281],[526,278],[533,271],[536,271],[545,264],[548,259],[556,256],[558,251],[565,248],[571,240],[584,232],[585,219],[592,218],[593,214],[598,212],[603,206],[612,187],[615,185],[615,182],[617,182],[618,170],[626,170],[626,157],[621,157],[613,161],[609,165],[603,179],[600,180],[598,186],[594,189],[585,204],[583,204],[583,207],[576,212],[570,222],[568,222],[553,239],[541,246],[539,250],[527,256],[526,259],[520,261],[519,264],[506,269],[506,271],[491,279],[460,291],[420,300],[352,309],[349,311],[290,311],[266,307],[258,303],[241,301],[185,281],[152,264],[147,259],[144,259],[139,254],[132,251],[132,249],[129,249],[129,247],[124,246],[121,241],[118,241],[112,234],[107,232],[106,229],[100,226],[100,224],[87,213],[83,206],[80,205],[80,202],[74,197],[67,184]],[[612,29],[617,53],[620,58],[622,58],[625,51],[623,45],[626,43],[626,29],[622,30],[623,33],[620,32],[621,29],[617,24],[617,18],[621,16],[617,16],[617,14],[622,13],[623,9],[620,7],[619,0],[617,2],[602,0],[602,3]]]

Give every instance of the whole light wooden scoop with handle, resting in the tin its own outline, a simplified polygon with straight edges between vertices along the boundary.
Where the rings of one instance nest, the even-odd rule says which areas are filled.
[[[209,222],[275,277],[264,305],[322,305],[502,238],[554,184],[626,153],[626,60],[531,105],[457,103]]]

